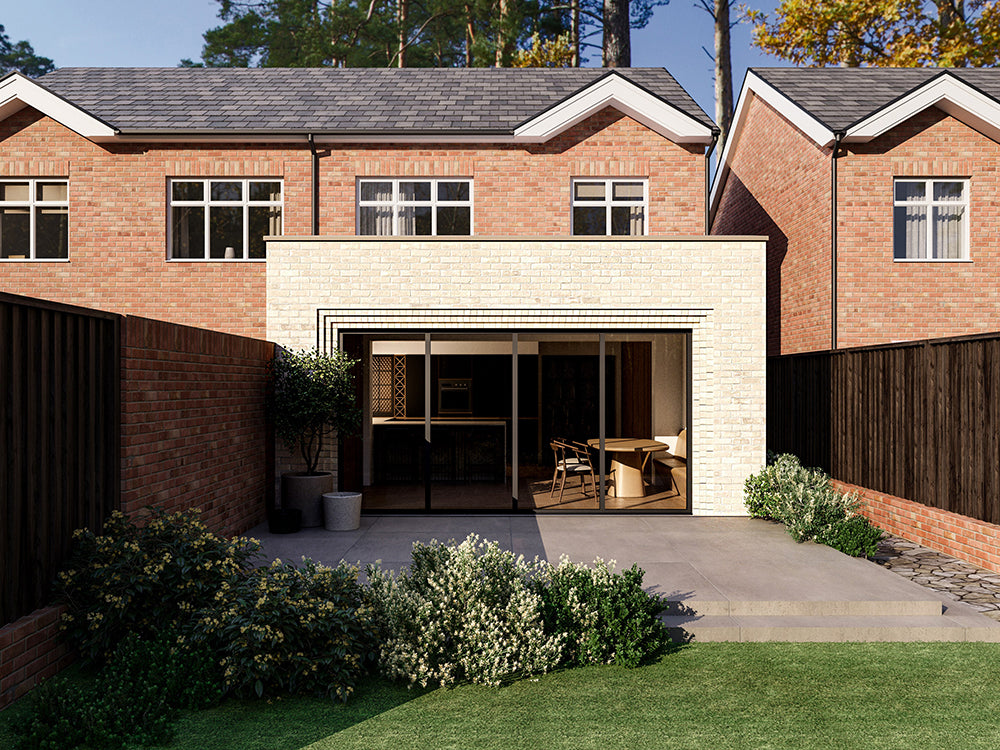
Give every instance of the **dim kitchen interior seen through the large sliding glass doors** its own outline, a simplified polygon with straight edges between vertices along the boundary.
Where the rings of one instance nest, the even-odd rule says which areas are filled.
[[[604,339],[606,439],[676,436],[689,408],[688,332]],[[552,492],[560,456],[550,445],[578,444],[600,481],[598,453],[585,447],[600,436],[598,334],[518,333],[515,343],[510,333],[435,333],[429,359],[423,334],[355,342],[366,364],[356,458],[366,510],[599,508],[590,477],[567,477]],[[643,496],[619,498],[606,461],[606,509],[689,508],[686,484],[652,460],[644,467]]]

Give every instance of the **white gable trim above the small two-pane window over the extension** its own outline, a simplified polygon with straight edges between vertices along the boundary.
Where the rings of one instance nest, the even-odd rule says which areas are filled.
[[[614,107],[674,143],[712,142],[712,130],[657,96],[612,73],[514,129],[520,143],[545,143],[605,107]]]

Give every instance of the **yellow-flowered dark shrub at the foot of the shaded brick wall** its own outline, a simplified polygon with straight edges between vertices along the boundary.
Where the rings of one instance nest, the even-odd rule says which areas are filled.
[[[115,511],[103,534],[79,529],[73,537],[56,591],[67,606],[62,628],[88,662],[106,658],[129,633],[184,630],[260,549],[253,539],[216,536],[195,510],[151,509],[144,525]]]

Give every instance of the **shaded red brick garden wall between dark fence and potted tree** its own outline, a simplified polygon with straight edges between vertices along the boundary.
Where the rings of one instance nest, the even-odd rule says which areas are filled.
[[[273,345],[137,317],[122,328],[122,510],[198,507],[227,536],[262,522]]]

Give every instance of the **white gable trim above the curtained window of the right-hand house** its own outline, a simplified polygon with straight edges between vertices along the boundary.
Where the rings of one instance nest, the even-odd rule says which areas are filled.
[[[883,107],[852,125],[844,136],[847,143],[867,143],[900,125],[928,107],[937,107],[995,141],[1000,141],[1000,102],[977,91],[951,73]]]

